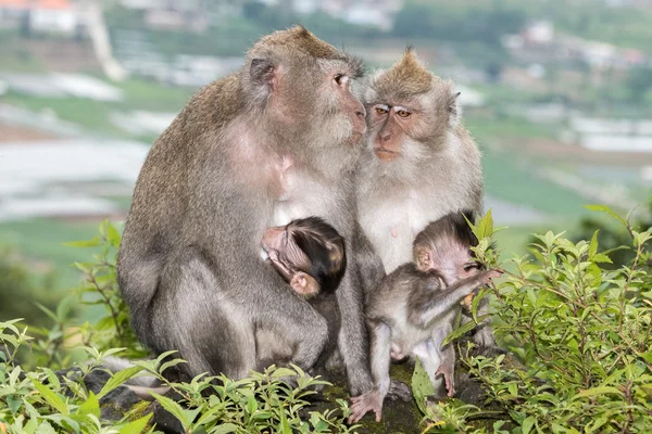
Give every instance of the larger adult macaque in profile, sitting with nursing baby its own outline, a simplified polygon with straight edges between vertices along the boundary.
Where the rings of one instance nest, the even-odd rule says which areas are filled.
[[[185,375],[239,379],[256,367],[256,330],[293,343],[310,369],[327,321],[260,255],[267,227],[319,216],[350,239],[348,174],[365,111],[351,94],[361,63],[303,27],[262,38],[240,72],[200,90],[150,151],[118,255],[131,323]],[[350,246],[347,246],[349,250]],[[349,255],[349,252],[347,252]],[[338,348],[353,395],[371,388],[359,273],[337,293]]]

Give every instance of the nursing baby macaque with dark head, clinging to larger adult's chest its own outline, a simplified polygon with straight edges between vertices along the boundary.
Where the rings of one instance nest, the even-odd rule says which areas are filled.
[[[337,304],[337,290],[346,270],[344,240],[337,230],[318,217],[308,217],[290,221],[286,226],[268,228],[262,240],[263,250],[274,269],[290,284],[290,288],[306,299],[328,322],[328,344],[322,352],[315,368],[323,368],[335,352],[340,328],[340,312]],[[258,336],[262,365],[287,357],[265,355],[264,340]],[[283,339],[274,336],[272,339]]]

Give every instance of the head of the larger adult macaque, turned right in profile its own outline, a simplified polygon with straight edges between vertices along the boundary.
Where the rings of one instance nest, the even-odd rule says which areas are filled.
[[[242,73],[248,99],[281,126],[281,135],[314,149],[361,141],[365,110],[350,90],[363,74],[359,59],[296,27],[263,38],[248,62]]]

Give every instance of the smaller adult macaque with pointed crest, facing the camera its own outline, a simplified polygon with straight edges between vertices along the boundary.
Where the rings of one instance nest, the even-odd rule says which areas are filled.
[[[429,221],[461,209],[473,217],[482,212],[480,152],[461,124],[457,95],[411,49],[371,79],[356,202],[362,231],[387,273],[412,260],[412,241]],[[487,302],[479,310],[488,310]],[[496,345],[489,324],[474,339],[482,347]]]

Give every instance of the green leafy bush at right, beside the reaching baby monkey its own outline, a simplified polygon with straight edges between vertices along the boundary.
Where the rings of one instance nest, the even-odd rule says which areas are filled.
[[[578,242],[547,232],[535,235],[530,255],[501,265],[509,271],[494,291],[494,322],[510,353],[462,357],[488,400],[504,408],[494,432],[652,432],[652,229],[637,231],[609,207],[590,208],[624,226],[627,264],[611,268],[613,250],[600,251],[597,232]],[[482,239],[478,258],[498,266],[491,231],[480,227],[491,229],[474,228]],[[478,412],[454,403],[425,410],[456,432],[484,432],[468,426]]]

